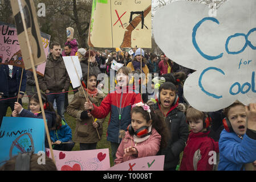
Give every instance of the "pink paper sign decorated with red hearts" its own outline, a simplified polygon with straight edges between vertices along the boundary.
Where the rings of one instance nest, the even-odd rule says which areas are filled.
[[[83,151],[54,151],[59,171],[104,171],[110,167],[108,148]],[[50,150],[46,155],[51,158]]]

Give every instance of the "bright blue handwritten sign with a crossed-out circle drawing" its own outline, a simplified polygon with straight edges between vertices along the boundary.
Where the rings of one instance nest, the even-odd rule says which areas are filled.
[[[37,118],[3,117],[0,129],[0,165],[19,152],[44,151],[44,122]]]

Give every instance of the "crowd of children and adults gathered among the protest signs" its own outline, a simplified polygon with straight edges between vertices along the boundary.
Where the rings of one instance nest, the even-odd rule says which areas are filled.
[[[236,101],[208,113],[194,109],[183,97],[183,84],[193,70],[178,65],[164,53],[156,55],[141,48],[129,52],[87,51],[78,49],[72,36],[67,37],[62,53],[61,50],[59,43],[51,43],[44,76],[38,76],[55,150],[71,151],[75,142],[80,144],[80,150],[96,149],[105,132],[103,122],[110,113],[107,140],[115,164],[165,155],[166,171],[245,170],[256,166],[256,104],[245,106]],[[71,83],[63,56],[75,55],[82,68],[82,85],[72,88],[74,98],[68,103]],[[123,64],[115,70],[115,89],[100,93],[97,88],[104,84],[97,76],[109,76],[113,61]],[[34,77],[30,71],[25,73],[27,77],[21,80],[21,68],[0,65],[1,122],[8,106],[13,117],[42,118],[38,94],[33,93]],[[146,77],[136,80],[129,77],[132,73],[144,73]],[[141,92],[149,84],[153,91]],[[30,96],[29,109],[22,107],[25,92]],[[64,118],[65,110],[76,118],[73,136]],[[45,144],[48,147],[47,138]]]

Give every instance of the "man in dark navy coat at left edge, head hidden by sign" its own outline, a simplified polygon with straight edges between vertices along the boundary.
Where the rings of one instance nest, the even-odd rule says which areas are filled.
[[[0,127],[2,119],[6,115],[7,108],[10,106],[14,110],[14,102],[19,98],[22,105],[22,97],[26,92],[26,71],[23,71],[21,90],[19,92],[19,83],[21,81],[22,68],[13,65],[0,65]],[[19,92],[19,93],[18,93]]]

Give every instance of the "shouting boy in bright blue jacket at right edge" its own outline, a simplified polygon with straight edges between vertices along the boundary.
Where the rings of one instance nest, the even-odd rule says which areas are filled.
[[[246,164],[256,160],[256,104],[245,106],[235,101],[224,114],[218,170],[243,171]]]

